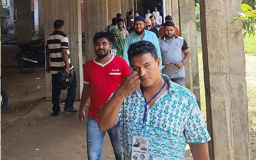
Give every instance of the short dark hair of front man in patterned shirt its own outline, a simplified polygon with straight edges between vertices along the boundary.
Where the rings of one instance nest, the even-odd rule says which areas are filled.
[[[156,46],[149,41],[139,41],[132,43],[128,48],[128,60],[131,62],[131,57],[139,56],[145,53],[150,53],[157,60]]]

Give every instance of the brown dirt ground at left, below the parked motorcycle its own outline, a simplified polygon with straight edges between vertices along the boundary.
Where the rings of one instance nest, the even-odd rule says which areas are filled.
[[[17,67],[2,67],[1,75],[1,85],[8,95],[8,107],[1,113],[1,133],[3,133],[23,115],[43,102],[45,73],[44,68],[36,68],[32,74],[24,74],[19,72]]]

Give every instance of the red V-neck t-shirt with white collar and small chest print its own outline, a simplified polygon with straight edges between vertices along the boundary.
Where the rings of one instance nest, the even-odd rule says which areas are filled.
[[[112,56],[105,64],[94,59],[84,65],[84,83],[90,84],[90,106],[88,117],[98,122],[98,113],[109,96],[121,84],[122,79],[131,73],[127,62],[118,56]]]

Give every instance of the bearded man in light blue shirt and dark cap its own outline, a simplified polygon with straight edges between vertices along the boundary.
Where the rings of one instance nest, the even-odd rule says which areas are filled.
[[[125,43],[124,43],[124,54],[123,57],[128,64],[128,48],[132,43],[138,42],[138,41],[149,41],[151,43],[153,43],[156,46],[156,50],[157,50],[157,57],[160,58],[160,61],[162,62],[162,57],[161,57],[161,51],[160,51],[160,46],[159,46],[159,42],[157,39],[156,34],[154,34],[151,31],[147,31],[145,30],[145,19],[142,16],[137,16],[134,19],[134,29],[135,32],[130,34],[126,39],[125,39]],[[160,65],[160,70],[162,70],[162,68],[164,68],[164,66]]]

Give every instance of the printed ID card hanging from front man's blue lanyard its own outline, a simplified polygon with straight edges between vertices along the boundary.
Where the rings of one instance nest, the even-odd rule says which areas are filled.
[[[132,138],[132,160],[148,160],[149,138],[134,136]]]

